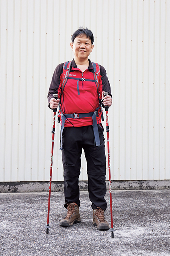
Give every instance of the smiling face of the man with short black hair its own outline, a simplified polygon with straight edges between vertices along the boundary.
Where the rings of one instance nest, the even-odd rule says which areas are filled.
[[[76,59],[87,59],[94,47],[86,35],[76,37],[70,45]]]

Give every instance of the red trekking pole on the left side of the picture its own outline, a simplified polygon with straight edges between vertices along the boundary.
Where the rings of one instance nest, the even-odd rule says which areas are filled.
[[[53,94],[54,98],[58,99],[58,94]],[[49,231],[49,217],[50,217],[50,198],[51,198],[51,180],[52,180],[52,169],[53,169],[53,149],[54,149],[54,135],[55,135],[55,118],[56,118],[56,111],[57,109],[53,109],[53,130],[52,130],[52,146],[51,146],[51,165],[50,165],[50,181],[49,181],[49,194],[48,194],[48,214],[47,214],[47,226],[45,226],[46,234],[48,234]]]

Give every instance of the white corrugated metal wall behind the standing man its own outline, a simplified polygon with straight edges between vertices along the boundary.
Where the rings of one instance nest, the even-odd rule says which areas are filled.
[[[0,181],[49,180],[48,87],[79,26],[94,32],[90,59],[112,87],[111,179],[170,179],[170,0],[0,0],[0,14]]]

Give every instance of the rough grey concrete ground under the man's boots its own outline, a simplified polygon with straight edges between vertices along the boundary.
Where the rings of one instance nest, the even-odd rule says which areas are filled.
[[[170,255],[170,191],[112,191],[114,239],[92,225],[88,192],[80,192],[81,223],[59,226],[66,216],[63,192],[0,194],[0,255],[167,256]],[[105,212],[110,223],[109,192]]]

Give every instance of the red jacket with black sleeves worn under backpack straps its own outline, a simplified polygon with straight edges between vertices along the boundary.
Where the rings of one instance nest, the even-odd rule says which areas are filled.
[[[53,98],[53,94],[61,94],[61,84],[63,81],[63,63],[59,64],[52,77],[48,92],[48,103],[50,99]],[[93,65],[89,60],[89,67],[83,73],[76,66],[74,59],[72,60],[70,66],[70,78],[85,78],[94,80]],[[78,88],[77,88],[78,83]],[[107,91],[111,95],[111,88],[106,74],[106,70],[100,65],[100,75],[98,76],[99,83],[99,95],[101,99],[102,91]],[[78,94],[78,89],[80,94]],[[50,106],[49,106],[50,107]],[[64,87],[64,91],[61,95],[60,108],[63,114],[73,114],[73,113],[89,113],[94,112],[96,108],[99,107],[99,99],[97,86],[95,82],[90,81],[78,81],[68,79]],[[97,123],[101,123],[101,108],[98,110],[98,116],[96,117]],[[93,124],[91,117],[86,118],[69,118],[70,122],[66,119],[64,126],[66,127],[80,127],[89,126]]]

